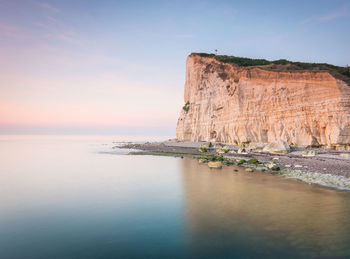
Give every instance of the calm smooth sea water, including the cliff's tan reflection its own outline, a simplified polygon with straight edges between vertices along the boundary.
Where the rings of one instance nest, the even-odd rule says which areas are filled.
[[[350,192],[120,140],[0,136],[0,258],[350,257]]]

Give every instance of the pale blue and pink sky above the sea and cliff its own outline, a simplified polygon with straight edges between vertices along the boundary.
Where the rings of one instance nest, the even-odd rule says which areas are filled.
[[[0,0],[0,134],[174,136],[191,52],[346,66],[349,42],[349,0]]]

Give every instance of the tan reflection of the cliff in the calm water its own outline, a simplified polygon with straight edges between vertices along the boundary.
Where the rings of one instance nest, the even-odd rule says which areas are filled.
[[[350,255],[350,193],[183,159],[185,212],[197,255]]]

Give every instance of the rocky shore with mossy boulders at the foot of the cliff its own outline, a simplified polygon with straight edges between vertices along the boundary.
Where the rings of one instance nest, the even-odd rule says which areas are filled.
[[[242,166],[247,172],[264,171],[310,184],[350,190],[350,152],[317,148],[289,147],[283,142],[236,147],[221,143],[164,142],[125,144],[132,155],[189,157],[211,168]]]

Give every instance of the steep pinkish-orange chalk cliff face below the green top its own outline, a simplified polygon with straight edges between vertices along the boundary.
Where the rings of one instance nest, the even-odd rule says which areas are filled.
[[[276,72],[191,54],[176,137],[348,146],[350,87],[328,72]]]

